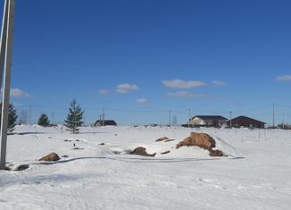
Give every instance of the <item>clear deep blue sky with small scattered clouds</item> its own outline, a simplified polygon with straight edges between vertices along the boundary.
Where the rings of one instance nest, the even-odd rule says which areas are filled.
[[[0,1],[3,5],[3,0]],[[2,6],[3,7],[3,6]],[[291,2],[16,0],[12,102],[63,122],[244,114],[291,123]],[[30,111],[29,111],[30,105]]]

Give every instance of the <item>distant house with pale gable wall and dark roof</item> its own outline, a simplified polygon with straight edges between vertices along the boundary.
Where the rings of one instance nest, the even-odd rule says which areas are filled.
[[[189,124],[192,126],[221,126],[228,119],[220,115],[196,115],[189,119]]]

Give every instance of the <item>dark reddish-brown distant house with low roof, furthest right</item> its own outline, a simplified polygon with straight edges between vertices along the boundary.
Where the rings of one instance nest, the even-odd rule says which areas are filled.
[[[265,124],[266,122],[257,121],[253,118],[245,116],[238,116],[231,120],[231,125],[236,128],[246,127],[263,129],[265,128]],[[227,121],[227,125],[230,126],[230,120]]]

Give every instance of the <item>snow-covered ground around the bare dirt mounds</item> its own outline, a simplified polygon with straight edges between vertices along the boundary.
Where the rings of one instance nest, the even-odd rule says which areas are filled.
[[[210,134],[229,156],[176,149],[191,131]],[[74,135],[62,127],[20,126],[15,132],[7,165],[29,169],[0,171],[0,209],[291,209],[288,130],[105,127]],[[155,142],[164,136],[174,140]],[[129,155],[135,147],[157,155]],[[68,157],[37,161],[50,152]]]

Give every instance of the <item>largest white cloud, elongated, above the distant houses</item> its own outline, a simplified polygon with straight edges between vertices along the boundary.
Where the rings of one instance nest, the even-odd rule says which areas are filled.
[[[206,84],[198,80],[163,80],[162,84],[167,88],[199,88],[204,87]]]

